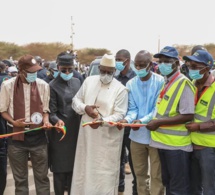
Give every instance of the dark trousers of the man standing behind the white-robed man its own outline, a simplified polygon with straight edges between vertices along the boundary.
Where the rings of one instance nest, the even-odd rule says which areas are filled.
[[[120,161],[120,175],[119,175],[119,192],[125,191],[125,163],[126,163],[126,148],[128,149],[128,162],[131,168],[131,173],[133,175],[133,186],[132,186],[132,194],[137,195],[137,182],[136,176],[134,173],[133,163],[131,159],[131,150],[130,150],[131,140],[129,138],[129,133],[125,133],[122,142],[122,152],[121,152],[121,161]]]

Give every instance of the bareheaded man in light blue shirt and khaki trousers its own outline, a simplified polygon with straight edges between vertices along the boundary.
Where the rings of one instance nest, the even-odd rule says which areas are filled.
[[[128,81],[128,112],[124,123],[147,123],[153,117],[158,95],[164,84],[164,78],[151,72],[152,56],[146,51],[139,51],[134,60],[137,76]],[[150,131],[145,127],[132,128],[130,132],[131,156],[137,178],[138,194],[163,194],[161,167],[157,149],[150,147]],[[148,175],[148,158],[150,159],[150,183]],[[151,193],[150,193],[151,192]]]

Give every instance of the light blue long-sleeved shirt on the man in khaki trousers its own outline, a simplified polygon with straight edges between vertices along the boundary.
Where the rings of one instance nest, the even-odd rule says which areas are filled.
[[[141,81],[138,76],[128,81],[126,87],[129,90],[129,103],[125,117],[128,123],[132,123],[134,120],[147,123],[153,118],[157,98],[163,84],[164,78],[153,72],[147,81]],[[150,138],[150,131],[145,127],[130,132],[130,139],[137,143],[149,144]]]

